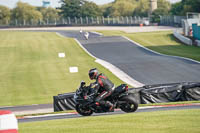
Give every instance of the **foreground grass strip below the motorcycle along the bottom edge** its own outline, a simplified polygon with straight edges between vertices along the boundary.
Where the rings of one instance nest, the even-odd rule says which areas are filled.
[[[19,123],[20,133],[199,133],[199,109]]]

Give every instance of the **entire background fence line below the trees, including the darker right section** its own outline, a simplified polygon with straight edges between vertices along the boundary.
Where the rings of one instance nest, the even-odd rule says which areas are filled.
[[[160,16],[159,25],[178,26],[183,25],[185,16]],[[42,20],[0,20],[0,27],[45,27],[45,26],[138,26],[155,25],[148,17],[120,16],[120,17],[65,17],[59,19]],[[157,25],[157,24],[156,24]]]

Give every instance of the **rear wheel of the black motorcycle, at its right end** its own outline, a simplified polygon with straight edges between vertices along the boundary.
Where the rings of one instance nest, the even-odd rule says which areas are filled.
[[[124,101],[120,104],[120,109],[126,113],[135,112],[138,108],[138,103],[130,95],[123,97],[120,101]]]

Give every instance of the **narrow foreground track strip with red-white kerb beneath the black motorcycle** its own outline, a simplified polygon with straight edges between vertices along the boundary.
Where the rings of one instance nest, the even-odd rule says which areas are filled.
[[[200,104],[188,104],[188,105],[166,105],[166,106],[157,106],[157,107],[147,107],[147,108],[139,108],[134,113],[140,112],[153,112],[153,111],[166,111],[166,110],[185,110],[185,109],[200,109]],[[116,115],[116,114],[124,114],[121,110],[117,110],[115,112],[109,113],[94,113],[92,116],[102,116],[102,115]],[[35,121],[46,121],[46,120],[55,120],[55,119],[70,119],[70,118],[81,118],[86,116],[81,116],[77,113],[65,113],[65,114],[53,114],[47,116],[33,116],[33,117],[25,117],[18,119],[19,123],[24,122],[35,122]],[[91,116],[87,116],[91,117]]]

